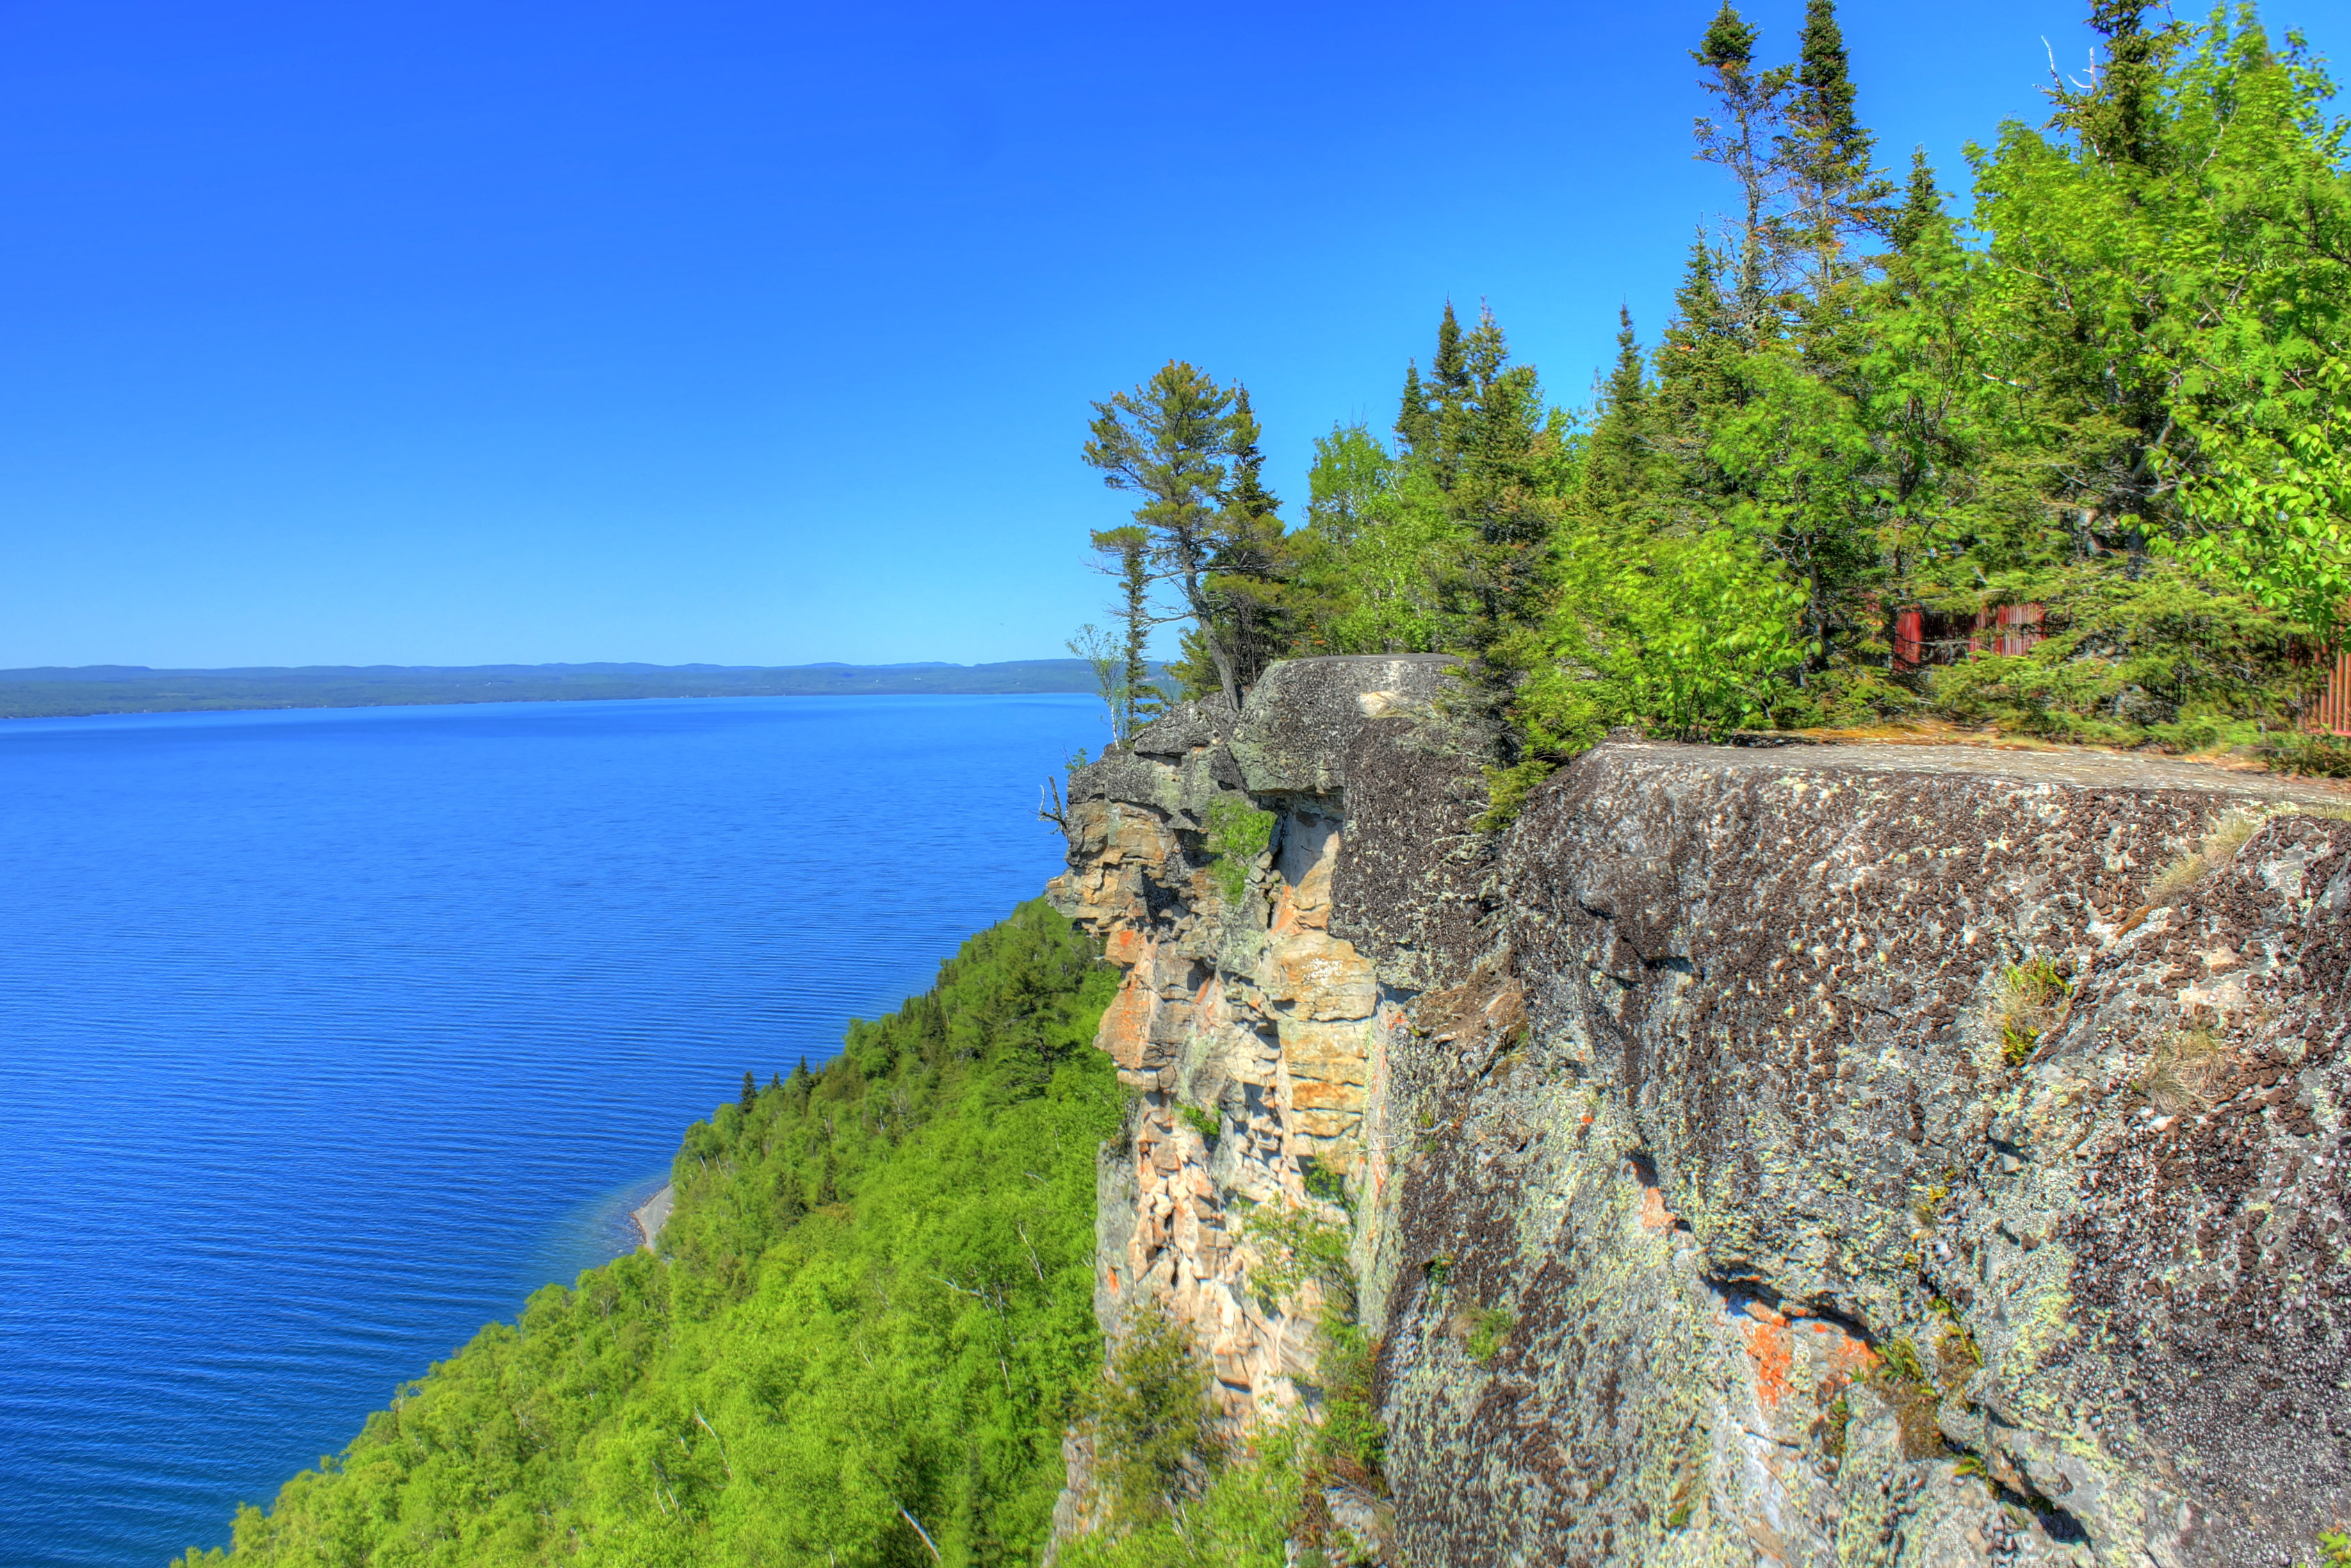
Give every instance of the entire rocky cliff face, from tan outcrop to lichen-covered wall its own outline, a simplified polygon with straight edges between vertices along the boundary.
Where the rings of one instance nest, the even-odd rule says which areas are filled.
[[[1277,665],[1072,778],[1053,898],[1126,969],[1138,1093],[1105,1328],[1166,1302],[1237,1425],[1312,1403],[1239,1215],[1347,1222],[1415,1568],[2316,1559],[2337,797],[1610,743],[1476,835],[1444,682]]]

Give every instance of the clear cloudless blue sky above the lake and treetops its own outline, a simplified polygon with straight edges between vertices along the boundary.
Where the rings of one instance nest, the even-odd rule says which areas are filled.
[[[0,665],[1060,654],[1171,355],[1295,505],[1446,296],[1653,336],[1712,9],[0,0]],[[1850,0],[1888,162],[2085,12]]]

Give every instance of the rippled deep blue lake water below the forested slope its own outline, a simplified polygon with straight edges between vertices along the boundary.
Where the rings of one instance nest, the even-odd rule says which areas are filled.
[[[1074,696],[0,724],[0,1563],[226,1544],[1058,867]]]

